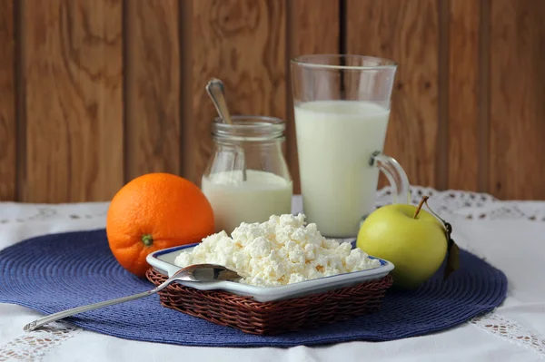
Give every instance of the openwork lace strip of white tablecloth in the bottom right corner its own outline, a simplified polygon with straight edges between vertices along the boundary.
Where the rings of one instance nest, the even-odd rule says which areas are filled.
[[[470,323],[496,337],[508,340],[545,357],[545,338],[496,312],[472,318]]]

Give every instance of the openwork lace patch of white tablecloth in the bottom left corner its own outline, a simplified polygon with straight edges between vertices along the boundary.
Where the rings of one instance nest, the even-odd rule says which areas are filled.
[[[49,323],[41,329],[27,332],[0,346],[0,361],[39,361],[51,348],[74,337],[81,328],[64,323]]]

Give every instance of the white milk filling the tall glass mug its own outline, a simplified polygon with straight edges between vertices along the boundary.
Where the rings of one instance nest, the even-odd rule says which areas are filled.
[[[353,237],[373,210],[390,110],[363,101],[313,101],[294,107],[303,209],[324,236]]]

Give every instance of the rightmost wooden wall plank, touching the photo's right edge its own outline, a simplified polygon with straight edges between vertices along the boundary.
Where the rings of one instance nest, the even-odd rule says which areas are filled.
[[[545,2],[490,1],[490,192],[545,199]]]

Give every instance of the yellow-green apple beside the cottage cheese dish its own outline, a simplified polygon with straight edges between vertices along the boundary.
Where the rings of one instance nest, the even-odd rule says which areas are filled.
[[[391,204],[374,210],[362,223],[356,245],[371,256],[394,265],[394,286],[415,289],[441,267],[447,254],[447,234],[426,210]],[[414,217],[415,213],[417,214]]]

